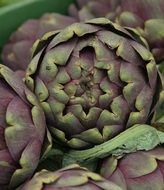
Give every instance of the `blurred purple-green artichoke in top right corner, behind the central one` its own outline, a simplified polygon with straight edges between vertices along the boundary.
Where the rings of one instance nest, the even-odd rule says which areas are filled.
[[[80,21],[106,17],[135,28],[148,41],[156,61],[164,60],[163,0],[76,0],[69,13]]]

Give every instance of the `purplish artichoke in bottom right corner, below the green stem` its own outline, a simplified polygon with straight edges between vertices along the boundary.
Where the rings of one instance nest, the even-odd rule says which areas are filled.
[[[111,156],[103,161],[100,174],[123,190],[163,190],[164,149],[138,151],[123,158]]]

